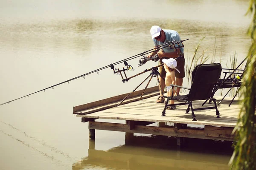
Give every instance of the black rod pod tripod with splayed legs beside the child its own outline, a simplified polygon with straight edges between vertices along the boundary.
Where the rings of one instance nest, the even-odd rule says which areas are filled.
[[[164,80],[164,78],[163,78],[163,77],[160,75],[160,73],[157,71],[157,70],[158,70],[158,67],[161,67],[161,66],[163,66],[163,64],[157,65],[156,67],[152,67],[152,68],[150,68],[150,69],[146,69],[145,71],[143,71],[143,72],[141,72],[141,73],[139,73],[139,74],[136,74],[136,75],[134,75],[134,76],[132,76],[132,77],[129,77],[129,78],[127,78],[127,79],[123,79],[123,81],[128,81],[129,79],[131,79],[131,78],[133,78],[133,77],[136,77],[136,76],[138,76],[138,75],[140,75],[140,74],[143,74],[143,73],[145,73],[145,72],[151,71],[151,73],[149,74],[149,76],[148,76],[147,78],[145,78],[145,79],[143,80],[143,82],[140,83],[140,85],[142,85],[142,84],[150,77],[150,79],[149,79],[149,81],[148,81],[148,84],[146,85],[146,87],[145,87],[143,93],[142,93],[141,96],[140,96],[140,99],[142,98],[143,94],[145,93],[145,90],[148,88],[149,82],[151,81],[152,77],[157,77],[157,82],[158,82],[158,85],[159,85],[159,88],[160,88],[160,95],[163,96],[163,89],[161,88],[158,75],[159,75],[163,80]],[[116,105],[116,107],[119,106],[125,99],[127,99],[127,97],[130,96],[134,91],[136,91],[137,88],[140,87],[140,85],[138,85],[138,86],[137,86],[130,94],[128,94],[118,105]],[[163,100],[164,100],[164,102],[165,102],[164,97],[163,97]]]

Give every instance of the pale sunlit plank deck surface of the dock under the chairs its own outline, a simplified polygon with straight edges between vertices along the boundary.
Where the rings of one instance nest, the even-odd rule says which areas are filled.
[[[157,92],[158,93],[158,86]],[[139,97],[140,98],[140,95]],[[218,97],[215,97],[218,98]],[[220,99],[222,97],[219,97]],[[116,120],[129,120],[137,122],[165,122],[165,123],[181,123],[181,124],[192,124],[192,125],[208,125],[208,126],[219,126],[219,127],[235,127],[237,124],[238,113],[240,105],[237,102],[228,107],[230,103],[230,97],[226,97],[227,101],[221,102],[218,106],[220,111],[220,119],[216,118],[215,109],[195,111],[195,116],[197,121],[192,121],[191,113],[185,114],[187,105],[177,106],[175,110],[166,111],[166,116],[161,116],[164,108],[164,103],[155,103],[156,97],[152,96],[143,100],[138,100],[135,102],[126,103],[125,105],[119,105],[118,107],[104,108],[105,106],[99,105],[94,108],[88,108],[86,111],[81,111],[87,113],[87,111],[92,111],[93,113],[87,115],[78,115],[77,117],[84,117],[89,119],[84,119],[87,121],[94,119],[116,119]],[[128,99],[129,100],[129,99]],[[204,107],[201,104],[204,101],[194,101],[194,108]],[[114,102],[115,103],[115,102]],[[176,103],[176,102],[175,102]],[[109,104],[112,105],[113,103]],[[115,105],[117,102],[115,103]],[[212,104],[206,103],[205,106],[212,106]],[[99,109],[99,110],[97,110]],[[105,110],[102,110],[105,109]],[[143,125],[146,125],[144,123]],[[149,123],[148,123],[149,124]]]

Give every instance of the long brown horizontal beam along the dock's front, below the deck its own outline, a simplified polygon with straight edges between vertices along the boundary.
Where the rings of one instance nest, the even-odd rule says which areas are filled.
[[[119,132],[129,132],[129,133],[145,133],[152,135],[162,135],[162,136],[176,136],[176,137],[187,137],[187,138],[198,138],[198,139],[217,139],[217,140],[230,140],[233,139],[215,136],[205,136],[204,130],[198,129],[175,129],[169,127],[154,127],[154,126],[140,126],[135,125],[134,129],[129,130],[127,124],[119,123],[106,123],[106,122],[89,122],[89,129],[97,130],[111,130]]]

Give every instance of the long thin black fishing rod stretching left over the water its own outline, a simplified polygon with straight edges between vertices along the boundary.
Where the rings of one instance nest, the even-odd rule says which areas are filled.
[[[186,40],[189,40],[189,39],[186,39]],[[180,42],[182,43],[183,41],[186,41],[186,40],[181,40]],[[26,98],[26,96],[29,97],[29,96],[31,96],[32,94],[36,94],[36,93],[39,93],[39,92],[41,92],[41,91],[45,91],[45,90],[47,90],[47,89],[49,89],[49,88],[54,89],[55,86],[64,84],[64,83],[66,83],[66,82],[69,83],[70,81],[72,81],[72,80],[74,80],[74,79],[78,79],[78,78],[80,78],[80,77],[84,77],[84,76],[87,76],[87,75],[92,74],[92,73],[95,73],[95,72],[99,73],[99,71],[104,70],[105,68],[111,67],[111,65],[118,65],[118,64],[120,64],[120,63],[122,63],[122,62],[129,61],[129,60],[135,59],[135,58],[137,58],[137,57],[142,57],[142,56],[145,57],[145,56],[144,56],[145,54],[149,54],[149,53],[151,53],[151,52],[153,52],[153,51],[158,51],[159,49],[169,47],[169,46],[170,46],[170,43],[171,43],[172,45],[174,45],[174,44],[177,44],[177,43],[180,43],[180,42],[167,42],[167,43],[165,43],[165,44],[163,44],[163,45],[160,45],[160,46],[158,46],[158,47],[156,47],[156,48],[152,48],[152,49],[150,49],[150,50],[148,50],[148,51],[144,51],[143,53],[140,53],[140,54],[137,54],[137,55],[128,57],[128,58],[126,58],[126,59],[122,59],[122,60],[120,60],[120,61],[118,61],[118,62],[114,62],[113,64],[106,65],[106,66],[104,66],[104,67],[102,67],[102,68],[98,68],[98,69],[96,69],[96,70],[94,70],[94,71],[90,71],[90,72],[88,72],[88,73],[82,74],[81,76],[74,77],[74,78],[72,78],[72,79],[68,79],[68,80],[66,80],[66,81],[64,81],[64,82],[60,82],[60,83],[55,84],[55,85],[52,85],[52,86],[50,86],[50,87],[48,87],[48,88],[44,88],[44,89],[42,89],[42,90],[36,91],[36,92],[34,92],[34,93],[31,93],[31,94],[27,94],[27,95],[22,96],[22,97],[19,97],[19,98],[17,98],[17,99],[13,99],[13,100],[10,100],[10,101],[8,101],[8,102],[4,102],[4,103],[0,104],[0,106],[1,106],[1,105],[5,105],[5,104],[10,103],[10,102],[13,102],[13,101],[18,100],[18,99]],[[84,79],[85,79],[85,77],[84,77]]]

